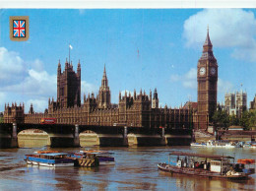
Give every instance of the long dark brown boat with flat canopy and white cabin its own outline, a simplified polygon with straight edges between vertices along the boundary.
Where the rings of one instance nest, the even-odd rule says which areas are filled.
[[[175,158],[170,160],[170,158]],[[231,167],[232,157],[171,152],[168,163],[161,162],[158,168],[170,173],[205,176],[209,178],[246,179],[248,174]]]

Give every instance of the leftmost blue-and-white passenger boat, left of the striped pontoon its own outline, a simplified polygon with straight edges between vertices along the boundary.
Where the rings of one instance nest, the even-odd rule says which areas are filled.
[[[66,167],[74,166],[74,159],[68,153],[39,152],[32,155],[26,155],[25,161],[28,164],[49,166],[49,167]]]

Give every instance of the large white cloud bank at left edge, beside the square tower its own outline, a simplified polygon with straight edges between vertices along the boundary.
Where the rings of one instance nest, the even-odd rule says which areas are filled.
[[[29,105],[26,111],[31,102],[36,110],[44,111],[48,97],[56,95],[57,76],[44,71],[39,59],[24,61],[18,52],[5,47],[0,47],[0,80],[2,108],[5,102],[24,101]]]

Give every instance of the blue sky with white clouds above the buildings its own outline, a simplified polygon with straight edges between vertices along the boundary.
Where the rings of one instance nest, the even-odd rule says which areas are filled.
[[[57,66],[80,60],[82,93],[98,92],[105,64],[111,102],[121,92],[149,95],[160,105],[197,101],[197,63],[209,26],[218,60],[218,101],[256,94],[255,9],[1,9],[0,111],[5,103],[31,103],[43,112],[57,96]],[[30,17],[28,41],[12,41],[10,16]],[[82,98],[83,102],[83,98]]]

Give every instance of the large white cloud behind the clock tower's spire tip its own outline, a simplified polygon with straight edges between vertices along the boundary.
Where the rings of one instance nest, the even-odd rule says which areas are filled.
[[[208,25],[214,47],[233,47],[235,58],[256,61],[256,19],[251,11],[205,9],[198,12],[184,23],[186,45],[202,45]]]

